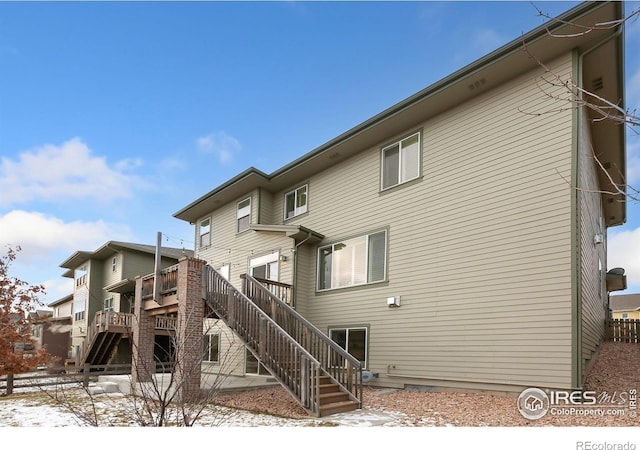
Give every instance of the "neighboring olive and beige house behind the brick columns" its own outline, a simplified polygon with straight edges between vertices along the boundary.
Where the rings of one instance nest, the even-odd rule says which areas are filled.
[[[156,246],[109,241],[95,251],[78,251],[60,267],[63,276],[74,280],[72,294],[71,358],[78,360],[80,349],[100,311],[130,315],[133,311],[135,278],[155,269]],[[161,247],[160,268],[174,265],[193,251]],[[68,298],[68,297],[66,297]],[[65,307],[67,302],[64,303]],[[130,362],[128,340],[120,341],[112,362]]]

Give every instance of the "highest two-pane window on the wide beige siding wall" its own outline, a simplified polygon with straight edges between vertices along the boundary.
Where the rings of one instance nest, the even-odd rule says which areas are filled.
[[[420,133],[382,149],[382,189],[420,176]]]

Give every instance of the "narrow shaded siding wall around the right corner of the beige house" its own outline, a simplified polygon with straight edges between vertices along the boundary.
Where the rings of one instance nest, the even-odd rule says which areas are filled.
[[[584,365],[591,359],[593,353],[604,338],[604,322],[607,317],[607,307],[604,294],[603,273],[606,271],[606,239],[602,244],[594,244],[594,236],[602,234],[606,238],[606,228],[600,228],[602,219],[601,196],[597,192],[597,168],[591,151],[591,136],[586,117],[581,124],[581,139],[579,147],[578,191],[580,202],[580,265],[581,265],[581,362],[582,378]],[[579,381],[580,383],[582,380]]]

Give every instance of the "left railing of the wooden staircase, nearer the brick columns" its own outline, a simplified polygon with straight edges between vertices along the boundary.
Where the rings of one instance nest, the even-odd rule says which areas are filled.
[[[319,416],[320,362],[210,266],[203,268],[203,298],[302,407]]]

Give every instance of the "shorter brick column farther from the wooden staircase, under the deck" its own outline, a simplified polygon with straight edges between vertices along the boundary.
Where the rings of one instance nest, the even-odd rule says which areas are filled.
[[[142,306],[142,277],[136,277],[133,324],[131,325],[131,391],[140,382],[151,381],[156,372],[153,350],[155,320]]]

